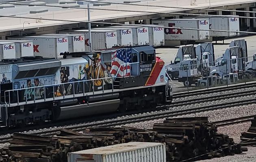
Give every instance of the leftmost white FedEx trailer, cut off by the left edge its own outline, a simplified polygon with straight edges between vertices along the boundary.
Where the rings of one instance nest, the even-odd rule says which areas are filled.
[[[15,59],[20,58],[20,55],[15,51],[15,43],[13,42],[0,42],[0,59]]]

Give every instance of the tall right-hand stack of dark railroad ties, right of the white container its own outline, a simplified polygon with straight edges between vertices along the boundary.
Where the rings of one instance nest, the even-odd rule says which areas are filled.
[[[207,117],[169,118],[154,124],[159,142],[167,147],[167,162],[192,161],[242,153],[241,145],[232,138],[217,133],[217,127]]]

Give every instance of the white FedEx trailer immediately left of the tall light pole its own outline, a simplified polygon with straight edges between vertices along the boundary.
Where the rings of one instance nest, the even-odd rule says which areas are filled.
[[[43,35],[45,35],[45,36],[67,36],[69,52],[85,51],[85,35],[84,34],[43,34]]]

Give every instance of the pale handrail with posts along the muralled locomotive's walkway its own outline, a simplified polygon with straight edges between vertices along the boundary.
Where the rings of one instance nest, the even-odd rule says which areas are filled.
[[[92,81],[93,82],[93,86],[94,86],[94,81],[98,81],[98,80],[102,80],[103,81],[103,79],[114,79],[114,78],[116,78],[117,76],[118,76],[118,73],[119,73],[119,71],[120,71],[120,69],[121,69],[121,67],[124,67],[124,65],[131,65],[131,64],[139,64],[139,62],[132,62],[132,63],[124,63],[124,64],[121,64],[120,66],[119,66],[119,68],[118,68],[118,70],[117,70],[117,73],[116,73],[116,75],[115,76],[112,76],[112,77],[104,77],[104,78],[98,78],[98,79],[88,79],[88,80],[82,80],[82,81],[72,81],[72,82],[67,82],[67,83],[57,83],[57,84],[53,84],[53,85],[42,85],[42,86],[37,86],[37,87],[26,87],[26,88],[20,88],[20,89],[16,89],[16,90],[6,90],[6,91],[4,91],[4,102],[5,102],[5,104],[6,105],[8,105],[8,101],[6,100],[6,95],[7,95],[7,93],[8,93],[8,98],[9,98],[9,106],[10,106],[10,104],[11,104],[11,98],[10,98],[10,94],[11,94],[11,92],[15,92],[15,91],[17,91],[17,104],[19,104],[19,95],[18,95],[18,91],[20,91],[20,90],[30,90],[30,89],[34,89],[34,90],[36,90],[36,89],[40,89],[40,88],[43,88],[43,90],[44,90],[44,98],[41,98],[41,99],[44,99],[44,101],[46,101],[46,87],[53,87],[53,98],[55,98],[55,94],[54,94],[54,87],[56,87],[56,86],[60,86],[60,85],[65,85],[65,84],[72,84],[73,86],[74,86],[74,84],[75,83],[83,83],[83,92],[81,92],[81,93],[75,93],[75,86],[74,86],[74,94],[73,95],[75,95],[75,94],[85,94],[85,82],[89,82],[89,81]],[[130,73],[131,74],[131,73]],[[129,75],[126,75],[126,76],[129,76]],[[113,83],[112,83],[112,92],[113,92],[113,90],[114,90],[114,86],[113,86]],[[56,90],[57,91],[57,90]],[[104,85],[103,85],[103,83],[102,83],[102,91],[103,91],[103,93],[104,93]],[[94,87],[93,87],[93,94],[94,94]],[[71,95],[71,94],[70,94]],[[35,92],[34,92],[34,102],[35,102]],[[63,98],[65,98],[65,96],[67,96],[67,94],[65,94],[65,93],[63,93]],[[59,96],[56,96],[56,97],[59,97]],[[27,103],[27,101],[28,101],[28,98],[27,98],[27,95],[26,95],[26,97],[25,97],[25,102]],[[15,102],[16,103],[16,102]]]

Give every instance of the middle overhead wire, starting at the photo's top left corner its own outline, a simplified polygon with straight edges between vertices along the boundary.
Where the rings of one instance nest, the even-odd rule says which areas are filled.
[[[197,17],[236,17],[236,18],[247,18],[256,19],[256,17],[246,17],[246,16],[236,16],[236,15],[199,15],[194,13],[171,13],[171,12],[154,12],[154,11],[136,11],[136,10],[117,10],[117,9],[99,9],[99,8],[88,8],[88,7],[75,7],[75,6],[56,6],[56,5],[46,5],[46,4],[22,4],[13,2],[0,2],[0,4],[16,4],[25,6],[46,6],[46,7],[59,7],[59,8],[70,8],[70,9],[90,9],[90,10],[104,10],[104,11],[119,11],[119,12],[134,12],[134,13],[153,13],[153,14],[172,14],[172,15],[191,15]]]

